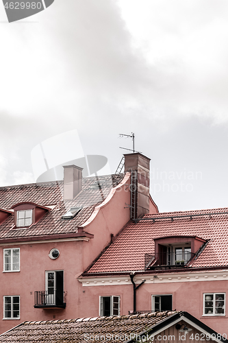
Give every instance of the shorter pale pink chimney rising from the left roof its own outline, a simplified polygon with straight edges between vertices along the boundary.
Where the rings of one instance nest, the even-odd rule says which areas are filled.
[[[64,200],[73,200],[81,191],[82,169],[76,165],[64,165]]]

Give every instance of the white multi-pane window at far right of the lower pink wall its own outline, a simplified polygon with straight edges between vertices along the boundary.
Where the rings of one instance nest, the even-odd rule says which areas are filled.
[[[225,316],[225,293],[203,294],[203,314],[205,316]]]

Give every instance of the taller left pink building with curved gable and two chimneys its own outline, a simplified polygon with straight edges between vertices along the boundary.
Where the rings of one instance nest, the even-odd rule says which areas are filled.
[[[77,278],[130,217],[157,212],[149,161],[129,154],[125,174],[82,178],[70,165],[59,182],[0,188],[1,333],[24,320],[90,316]]]

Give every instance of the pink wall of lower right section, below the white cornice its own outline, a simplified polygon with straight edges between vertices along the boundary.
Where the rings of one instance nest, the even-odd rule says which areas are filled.
[[[151,277],[153,276],[151,275]],[[143,275],[140,276],[140,279],[143,279]],[[121,314],[128,314],[129,310],[133,310],[133,285],[130,281],[129,285],[88,286],[83,287],[83,289],[85,293],[84,308],[81,309],[82,316],[99,315],[99,296],[121,296]],[[136,310],[150,310],[152,308],[152,295],[172,294],[173,309],[189,312],[208,327],[211,327],[218,333],[226,333],[228,337],[227,310],[225,316],[203,316],[203,293],[224,293],[226,290],[227,281],[189,281],[159,284],[146,282],[136,290]],[[93,299],[92,303],[91,299]],[[225,302],[225,308],[227,309],[227,298]],[[89,306],[90,311],[87,310]]]

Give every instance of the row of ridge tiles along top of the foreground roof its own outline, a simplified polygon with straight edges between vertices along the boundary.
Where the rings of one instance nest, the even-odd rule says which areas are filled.
[[[76,318],[76,319],[60,319],[60,320],[37,320],[37,321],[25,321],[21,325],[39,325],[39,324],[65,324],[71,322],[92,322],[96,320],[121,320],[121,319],[135,319],[135,318],[147,318],[147,317],[163,317],[167,314],[175,314],[181,311],[157,311],[150,312],[149,314],[128,314],[122,316],[98,316],[98,317],[88,317],[88,318]]]

